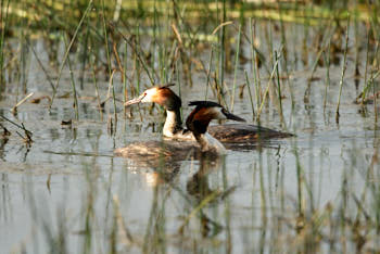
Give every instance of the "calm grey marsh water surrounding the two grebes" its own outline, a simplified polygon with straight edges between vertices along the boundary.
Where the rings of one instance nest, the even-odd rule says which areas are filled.
[[[269,71],[273,66],[269,52],[281,51],[281,33],[276,26],[278,24],[265,21],[256,24],[256,47],[267,56]],[[243,29],[250,34],[249,27]],[[307,29],[308,34],[304,35],[304,25],[286,24],[288,74],[283,59],[279,64],[283,117],[268,99],[259,120],[262,126],[288,131],[294,137],[238,145],[219,158],[170,161],[114,156],[116,148],[136,141],[162,140],[164,111],[149,104],[124,109],[119,73],[113,80],[118,99],[115,102],[117,119],[112,98],[103,111],[99,110],[92,72],[85,69],[80,86],[81,61],[74,54],[69,58],[78,96],[78,119],[68,66],[63,68],[50,109],[51,86],[36,55],[28,50],[25,76],[9,77],[12,81],[0,100],[1,115],[23,123],[33,132],[33,142],[27,143],[16,134],[24,136],[22,129],[5,119],[0,122],[11,132],[0,140],[0,253],[54,250],[69,253],[282,253],[294,250],[354,253],[359,244],[353,229],[354,219],[379,223],[379,124],[376,119],[379,109],[376,101],[365,105],[354,103],[365,85],[367,30],[359,27],[359,36],[355,37],[354,26],[350,29],[347,69],[337,122],[343,52],[334,53],[335,62],[331,60],[329,68],[326,64],[318,65],[309,81],[318,54],[314,46],[320,28]],[[237,30],[230,30],[228,39],[237,40]],[[268,31],[273,49],[266,43]],[[149,48],[152,37],[148,34],[144,35],[141,27],[140,41]],[[304,38],[306,51],[301,47]],[[344,33],[340,40],[344,48]],[[55,84],[58,68],[49,65],[47,42],[37,37],[28,43]],[[373,43],[370,41],[368,47],[373,48]],[[61,40],[58,45],[62,60],[65,43]],[[224,73],[226,99],[221,101],[229,110],[232,110],[237,50],[236,42],[231,45],[232,52],[226,53],[226,58],[232,67]],[[12,47],[16,50],[25,45],[14,39]],[[118,47],[123,49],[124,45],[121,42]],[[248,87],[242,87],[246,84],[245,69],[254,98],[251,46],[242,42],[240,50],[246,61],[241,58],[236,71],[233,113],[257,124],[253,122]],[[192,86],[185,75],[168,74],[168,81],[177,84],[173,90],[182,99],[183,117],[191,111],[187,105],[189,101],[218,100],[212,87],[206,87],[207,75],[195,66],[199,61],[207,68],[211,47],[193,51]],[[356,53],[359,75],[355,74]],[[127,52],[130,59],[126,62],[127,76],[134,76],[135,72],[131,54],[131,50]],[[327,68],[329,86],[326,88]],[[264,91],[269,75],[263,66],[259,72]],[[134,93],[129,85],[127,87],[129,99],[152,86],[141,73],[137,91]],[[101,101],[110,93],[109,85],[109,76],[98,73]],[[375,79],[375,90],[377,85]],[[31,92],[16,113],[12,112],[12,107]],[[72,123],[63,123],[69,120]],[[366,232],[358,229],[360,236],[366,236],[362,250],[379,250],[380,239],[373,228]]]

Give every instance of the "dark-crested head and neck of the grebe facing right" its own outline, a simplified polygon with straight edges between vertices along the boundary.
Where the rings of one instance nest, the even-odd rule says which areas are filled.
[[[189,105],[197,105],[186,120],[186,126],[194,135],[201,145],[202,152],[217,154],[226,153],[225,147],[214,137],[207,134],[207,127],[212,119],[233,119],[245,122],[237,115],[229,113],[226,109],[211,101],[192,101]]]

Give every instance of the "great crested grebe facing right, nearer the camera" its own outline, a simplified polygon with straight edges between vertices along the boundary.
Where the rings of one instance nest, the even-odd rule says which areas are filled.
[[[190,132],[193,135],[195,142],[136,142],[126,148],[115,150],[115,155],[118,156],[144,156],[159,157],[159,156],[176,156],[180,157],[181,154],[189,154],[197,152],[199,148],[202,153],[211,154],[225,154],[225,147],[214,137],[207,134],[207,127],[212,119],[233,119],[244,122],[237,115],[229,113],[226,109],[215,102],[210,101],[192,101],[189,105],[195,105],[197,107],[190,113],[186,120],[188,130],[183,132]]]

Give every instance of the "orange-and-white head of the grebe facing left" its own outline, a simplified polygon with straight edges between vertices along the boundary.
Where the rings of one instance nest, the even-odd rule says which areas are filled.
[[[174,86],[174,84],[167,84],[164,86],[147,89],[138,98],[127,101],[124,105],[128,106],[140,102],[155,102],[168,111],[177,110],[181,106],[181,100],[176,93],[172,91],[169,88],[172,86]]]

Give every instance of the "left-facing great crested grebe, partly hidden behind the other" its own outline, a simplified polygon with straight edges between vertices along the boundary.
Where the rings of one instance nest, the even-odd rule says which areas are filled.
[[[181,99],[169,88],[170,86],[174,86],[174,84],[147,89],[138,98],[127,101],[125,106],[155,102],[166,110],[166,120],[163,129],[165,137],[177,140],[194,140],[192,132],[182,128],[180,118]],[[248,124],[213,125],[208,126],[207,131],[221,142],[236,143],[292,136],[291,134]]]

